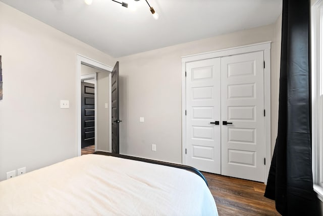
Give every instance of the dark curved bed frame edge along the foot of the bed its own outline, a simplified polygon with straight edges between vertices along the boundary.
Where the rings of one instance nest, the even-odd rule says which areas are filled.
[[[157,164],[157,165],[163,165],[163,166],[168,166],[168,167],[175,167],[175,168],[179,168],[179,169],[184,169],[184,170],[190,171],[192,173],[195,173],[196,175],[201,177],[204,180],[205,184],[208,186],[207,181],[206,181],[205,177],[203,176],[203,174],[201,174],[201,172],[199,172],[198,170],[196,170],[193,167],[180,165],[180,164],[168,163],[168,162],[159,161],[159,160],[152,160],[152,159],[146,159],[146,158],[141,158],[141,157],[128,156],[128,155],[124,155],[124,154],[114,154],[114,153],[109,153],[109,152],[104,152],[104,151],[95,151],[94,154],[121,157],[121,158],[125,158],[125,159],[130,159],[130,160],[138,160],[138,161],[142,161],[142,162],[146,162],[146,163],[150,163],[150,164]]]

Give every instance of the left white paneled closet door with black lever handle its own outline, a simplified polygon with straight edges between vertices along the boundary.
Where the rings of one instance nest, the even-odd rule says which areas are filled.
[[[186,164],[221,173],[221,60],[186,64]]]

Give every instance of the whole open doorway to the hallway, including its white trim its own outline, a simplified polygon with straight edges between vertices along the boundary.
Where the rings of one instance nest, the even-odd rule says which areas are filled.
[[[83,153],[92,151],[111,152],[112,130],[111,130],[111,72],[113,68],[94,60],[77,55],[77,155],[82,154],[82,140],[86,139],[86,146],[83,145]],[[82,83],[88,86],[86,96],[87,103],[93,107],[87,109],[86,120],[82,121],[82,90],[85,89]],[[89,87],[92,84],[93,88]],[[83,86],[83,87],[82,87]],[[84,100],[84,98],[83,98]],[[83,109],[83,112],[84,109]],[[93,120],[94,119],[94,120]],[[83,128],[84,121],[88,121],[87,127]],[[85,130],[86,129],[86,130]],[[85,133],[86,132],[86,133]],[[85,136],[86,134],[86,136]],[[94,145],[93,145],[94,144]]]

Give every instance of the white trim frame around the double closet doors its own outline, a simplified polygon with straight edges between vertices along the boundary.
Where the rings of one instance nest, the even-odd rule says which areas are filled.
[[[250,45],[221,49],[198,53],[195,55],[182,57],[182,164],[186,165],[186,63],[213,59],[219,57],[240,55],[249,52],[263,51],[263,60],[266,63],[264,67],[264,109],[266,110],[264,118],[264,156],[266,158],[264,170],[264,183],[267,183],[268,174],[271,166],[271,42],[255,43]]]

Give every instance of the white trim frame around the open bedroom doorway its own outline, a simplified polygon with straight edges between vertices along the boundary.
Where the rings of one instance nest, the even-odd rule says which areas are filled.
[[[95,61],[93,59],[90,59],[90,58],[87,58],[85,56],[82,56],[80,54],[77,54],[76,55],[76,119],[77,119],[77,152],[76,152],[76,155],[77,156],[81,156],[81,65],[87,65],[89,67],[92,67],[92,68],[96,68],[96,69],[99,69],[99,70],[103,70],[103,71],[106,71],[106,72],[109,72],[109,98],[111,98],[111,72],[113,70],[113,67],[109,66],[109,65],[105,65],[105,64],[102,64],[98,61]],[[96,88],[95,88],[96,89]],[[96,90],[95,90],[95,112],[97,112],[97,109],[96,109]],[[111,120],[111,100],[109,99],[109,124],[111,125],[112,124],[112,120]],[[97,115],[95,114],[95,117],[94,117],[94,121],[95,121],[95,128],[97,127]],[[97,130],[95,130],[95,137],[97,135]],[[109,127],[109,149],[111,151],[111,144],[112,144],[112,129],[111,127]],[[96,145],[96,139],[95,139],[95,148],[97,148],[97,145]],[[97,150],[97,149],[95,149]]]

